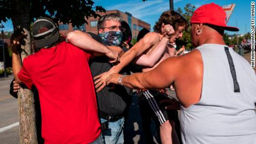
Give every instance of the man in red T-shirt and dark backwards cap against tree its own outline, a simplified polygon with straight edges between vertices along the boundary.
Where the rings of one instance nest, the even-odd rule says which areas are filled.
[[[78,33],[71,32],[67,40],[74,34]],[[58,28],[50,18],[36,19],[32,36],[35,46],[41,49],[25,58],[23,66],[18,55],[22,37],[12,38],[13,73],[16,82],[28,88],[35,85],[38,89],[45,143],[95,142],[101,129],[88,61],[102,53],[115,62],[118,54],[88,34],[81,36],[78,46],[93,51],[90,53],[71,43],[60,42]]]

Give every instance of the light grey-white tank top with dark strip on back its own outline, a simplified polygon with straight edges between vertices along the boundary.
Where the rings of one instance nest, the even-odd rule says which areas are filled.
[[[203,58],[203,87],[198,103],[181,106],[183,143],[256,143],[253,68],[228,46],[203,44],[196,49]]]

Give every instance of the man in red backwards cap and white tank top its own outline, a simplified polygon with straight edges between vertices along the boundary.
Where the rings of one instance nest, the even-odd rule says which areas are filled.
[[[181,103],[183,143],[256,143],[256,76],[250,64],[223,41],[224,10],[199,7],[191,17],[194,51],[161,62],[152,71],[111,75],[107,83],[130,88],[174,85]]]

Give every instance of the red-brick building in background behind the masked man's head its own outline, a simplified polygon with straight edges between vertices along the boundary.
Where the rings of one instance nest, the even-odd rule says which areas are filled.
[[[131,28],[132,37],[136,38],[137,34],[139,34],[139,31],[142,28],[149,29],[149,31],[150,31],[150,24],[149,23],[141,21],[140,19],[137,19],[135,17],[132,17],[131,13],[128,13],[128,12],[124,13],[124,12],[121,12],[117,9],[106,11],[106,13],[97,12],[97,14],[100,14],[100,16],[104,16],[105,14],[109,14],[109,13],[120,13],[121,14],[122,19],[124,19],[124,21],[126,21],[129,24],[130,28]],[[75,31],[75,30],[78,29],[78,30],[81,30],[81,31],[92,32],[92,33],[97,34],[98,19],[99,19],[99,17],[97,17],[97,18],[93,18],[93,17],[88,18],[88,19],[86,19],[88,24],[83,24],[80,27],[72,27],[71,23],[70,24],[60,24],[59,25],[60,33],[66,35],[68,32]]]

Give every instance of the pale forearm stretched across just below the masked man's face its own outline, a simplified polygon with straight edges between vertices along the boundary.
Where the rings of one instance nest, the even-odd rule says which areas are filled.
[[[73,31],[68,33],[67,41],[87,51],[100,52],[104,54],[110,52],[110,49],[108,47],[97,42],[95,39],[89,36],[89,34],[81,31]]]

